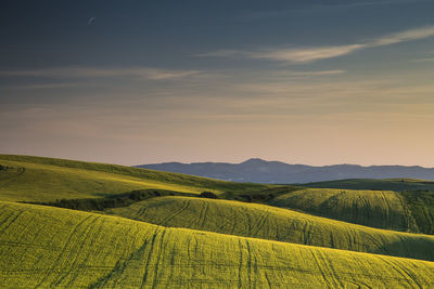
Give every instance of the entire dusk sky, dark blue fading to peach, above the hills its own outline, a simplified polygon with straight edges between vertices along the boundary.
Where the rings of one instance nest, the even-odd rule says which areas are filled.
[[[4,0],[0,154],[434,167],[433,11]]]

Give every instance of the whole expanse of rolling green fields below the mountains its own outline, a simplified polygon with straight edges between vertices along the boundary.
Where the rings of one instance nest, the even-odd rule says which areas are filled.
[[[0,288],[433,288],[434,236],[407,232],[433,234],[434,193],[401,183],[418,191],[0,155]]]

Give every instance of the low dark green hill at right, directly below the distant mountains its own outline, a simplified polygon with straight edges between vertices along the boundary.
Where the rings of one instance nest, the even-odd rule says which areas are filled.
[[[327,187],[327,188],[344,188],[344,189],[373,189],[373,191],[416,191],[432,189],[434,191],[434,181],[414,180],[414,179],[349,179],[319,183],[304,184],[305,187]]]

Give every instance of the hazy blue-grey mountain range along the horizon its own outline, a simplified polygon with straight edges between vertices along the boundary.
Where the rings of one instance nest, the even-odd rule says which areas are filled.
[[[334,165],[312,167],[266,161],[252,158],[241,163],[227,162],[164,162],[137,166],[158,171],[178,172],[233,182],[294,184],[344,179],[423,179],[434,180],[434,168],[404,166]]]

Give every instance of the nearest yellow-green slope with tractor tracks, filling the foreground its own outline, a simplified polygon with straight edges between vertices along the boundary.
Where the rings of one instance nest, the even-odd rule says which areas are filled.
[[[409,288],[434,263],[0,202],[1,288]]]

